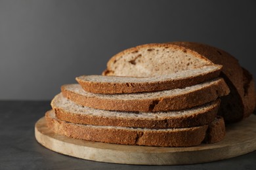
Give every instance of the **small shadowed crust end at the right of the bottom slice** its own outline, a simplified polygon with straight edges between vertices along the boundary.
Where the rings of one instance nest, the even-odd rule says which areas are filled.
[[[217,143],[222,141],[225,135],[226,129],[224,119],[221,116],[217,116],[217,118],[209,124],[204,142]]]

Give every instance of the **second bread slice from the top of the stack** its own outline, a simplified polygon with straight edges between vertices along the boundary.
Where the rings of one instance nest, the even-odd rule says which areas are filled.
[[[188,109],[215,101],[229,93],[228,86],[222,78],[182,89],[148,93],[96,94],[85,92],[79,84],[64,85],[61,90],[64,97],[79,105],[102,110],[134,112]]]

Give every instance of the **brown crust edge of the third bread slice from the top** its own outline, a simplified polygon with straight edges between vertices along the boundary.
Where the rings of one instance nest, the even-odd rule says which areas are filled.
[[[165,118],[140,118],[140,117],[117,117],[117,116],[95,116],[93,114],[78,114],[52,105],[56,117],[65,122],[74,124],[90,124],[95,126],[120,126],[120,127],[143,127],[143,128],[170,128],[170,127],[192,127],[209,124],[215,119],[219,109],[220,99],[211,108],[201,110],[195,114],[169,116]]]

